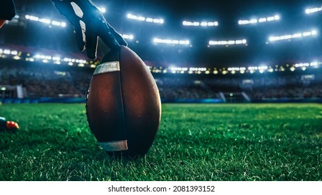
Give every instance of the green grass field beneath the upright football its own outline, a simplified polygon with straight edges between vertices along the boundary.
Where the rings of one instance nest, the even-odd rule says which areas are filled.
[[[0,180],[322,180],[321,104],[163,104],[145,157],[98,146],[84,104],[3,104]]]

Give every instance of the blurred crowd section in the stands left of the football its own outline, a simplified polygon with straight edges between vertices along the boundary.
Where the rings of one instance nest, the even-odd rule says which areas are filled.
[[[78,75],[82,73],[79,72]],[[82,75],[85,78],[85,75]],[[77,81],[77,82],[76,82]],[[70,71],[54,70],[54,68],[0,68],[0,85],[15,86],[22,85],[24,88],[24,97],[60,97],[84,96],[85,83],[87,81],[79,80],[79,77],[72,77]]]

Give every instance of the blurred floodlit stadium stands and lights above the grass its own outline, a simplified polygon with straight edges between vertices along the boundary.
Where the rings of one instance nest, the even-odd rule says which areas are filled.
[[[321,1],[93,1],[144,60],[162,102],[322,102]],[[0,30],[0,99],[84,102],[98,59],[52,1]]]

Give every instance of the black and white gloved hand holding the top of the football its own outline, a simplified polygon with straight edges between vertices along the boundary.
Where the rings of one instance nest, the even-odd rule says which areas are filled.
[[[52,0],[61,15],[74,26],[77,45],[81,51],[86,49],[90,59],[96,58],[98,37],[111,50],[127,46],[127,42],[110,26],[100,10],[91,0]]]

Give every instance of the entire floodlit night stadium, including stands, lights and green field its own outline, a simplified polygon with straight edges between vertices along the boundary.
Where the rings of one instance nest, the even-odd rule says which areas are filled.
[[[100,1],[162,101],[145,157],[100,148],[86,91],[108,52],[79,52],[52,1],[0,29],[0,180],[321,181],[321,1]]]

